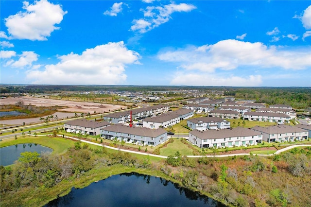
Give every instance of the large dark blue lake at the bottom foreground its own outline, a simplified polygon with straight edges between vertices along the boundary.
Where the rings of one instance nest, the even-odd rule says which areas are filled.
[[[72,189],[45,207],[225,207],[165,179],[138,173],[108,177],[84,189]]]

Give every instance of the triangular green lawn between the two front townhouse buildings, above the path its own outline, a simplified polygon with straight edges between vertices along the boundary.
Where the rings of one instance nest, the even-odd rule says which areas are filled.
[[[181,155],[193,155],[193,150],[186,144],[181,142],[181,139],[174,138],[173,143],[168,143],[166,147],[160,149],[160,155],[169,156],[175,155],[176,152]]]

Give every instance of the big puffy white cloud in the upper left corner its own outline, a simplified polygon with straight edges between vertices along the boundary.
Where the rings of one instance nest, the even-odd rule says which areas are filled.
[[[47,0],[35,0],[33,4],[24,1],[23,9],[26,11],[4,19],[10,38],[47,40],[54,30],[59,29],[54,25],[59,24],[67,14],[61,5],[52,4]]]

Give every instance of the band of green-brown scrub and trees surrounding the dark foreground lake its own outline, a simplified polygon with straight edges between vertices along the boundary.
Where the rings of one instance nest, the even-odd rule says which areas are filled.
[[[75,142],[63,155],[39,157],[35,152],[24,152],[15,165],[1,166],[1,207],[43,205],[66,191],[63,188],[71,189],[75,180],[86,182],[90,175],[123,167],[132,172],[158,172],[229,206],[311,206],[309,147],[269,158],[188,158],[178,152],[175,156],[151,162],[148,156],[138,159],[120,151],[108,153],[105,148],[94,150],[81,142]]]

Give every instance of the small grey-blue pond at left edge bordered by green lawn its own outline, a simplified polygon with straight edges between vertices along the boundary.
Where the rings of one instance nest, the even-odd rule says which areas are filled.
[[[52,152],[49,147],[42,146],[35,143],[16,144],[8,147],[0,148],[0,165],[7,166],[12,165],[20,157],[20,153],[23,152]]]

